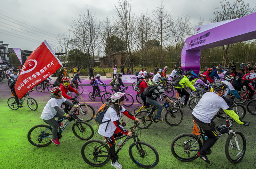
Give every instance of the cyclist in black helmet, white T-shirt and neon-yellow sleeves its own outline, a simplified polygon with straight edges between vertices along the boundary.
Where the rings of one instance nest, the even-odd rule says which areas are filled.
[[[210,161],[206,157],[205,153],[219,138],[215,131],[215,123],[213,122],[212,118],[220,110],[220,108],[223,109],[228,116],[234,119],[236,123],[245,126],[249,126],[250,124],[245,121],[240,121],[237,114],[233,110],[229,109],[229,106],[221,97],[225,94],[226,88],[228,88],[225,83],[213,83],[212,88],[213,91],[205,93],[192,112],[192,119],[204,130],[208,136],[208,139],[204,142],[200,151],[198,151],[198,156],[207,163],[210,163]]]

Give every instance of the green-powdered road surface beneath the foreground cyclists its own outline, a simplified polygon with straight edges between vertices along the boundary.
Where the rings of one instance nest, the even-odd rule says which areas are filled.
[[[77,138],[72,132],[74,122],[68,124],[66,130],[62,133],[60,145],[50,144],[46,147],[35,147],[28,142],[28,131],[37,124],[44,124],[40,119],[45,104],[49,99],[49,93],[37,93],[34,91],[31,96],[38,102],[38,109],[32,111],[24,104],[23,108],[11,110],[7,105],[7,99],[10,97],[10,90],[5,84],[1,85],[0,98],[0,168],[94,168],[88,165],[81,156],[82,145],[86,142]],[[86,92],[86,91],[85,91]],[[87,92],[88,93],[88,92]],[[83,95],[86,101],[88,96]],[[100,103],[90,103],[97,111],[101,106]],[[136,104],[137,105],[137,104]],[[135,106],[128,107],[133,112]],[[232,129],[242,131],[246,137],[246,152],[242,161],[238,164],[232,164],[225,155],[225,143],[227,135],[223,135],[212,147],[212,154],[208,155],[211,164],[205,163],[200,158],[192,162],[181,162],[173,157],[170,144],[172,140],[181,133],[192,133],[193,122],[191,119],[192,111],[189,108],[182,109],[184,119],[178,126],[169,126],[165,121],[153,123],[148,129],[141,131],[141,141],[145,141],[156,148],[159,153],[160,161],[156,168],[254,168],[255,167],[255,116],[247,112],[244,120],[250,121],[249,127],[240,126],[233,123]],[[124,117],[126,128],[133,126],[132,120]],[[217,125],[225,123],[223,119],[216,119]],[[94,128],[94,136],[92,139],[104,140],[97,133],[98,127],[95,122],[89,122]],[[123,168],[138,168],[132,162],[128,154],[128,149],[133,140],[129,140],[122,151],[118,154],[119,162]],[[113,168],[108,164],[99,168]]]

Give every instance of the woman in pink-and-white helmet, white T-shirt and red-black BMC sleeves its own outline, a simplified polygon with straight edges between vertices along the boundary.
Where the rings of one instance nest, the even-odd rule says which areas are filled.
[[[109,144],[109,154],[111,158],[111,165],[117,169],[121,169],[122,165],[116,160],[115,157],[115,138],[122,136],[123,134],[132,136],[132,132],[126,130],[124,126],[120,123],[120,113],[130,119],[139,122],[140,120],[124,109],[124,93],[117,92],[110,97],[111,103],[107,107],[107,111],[104,114],[102,122],[99,126],[98,133],[103,136]],[[113,107],[111,105],[114,105]]]

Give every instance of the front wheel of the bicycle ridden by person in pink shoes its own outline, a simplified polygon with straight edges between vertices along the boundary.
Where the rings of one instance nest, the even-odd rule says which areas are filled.
[[[77,123],[77,124],[76,124]],[[72,131],[77,138],[89,140],[94,135],[92,126],[84,121],[77,121],[72,126]]]

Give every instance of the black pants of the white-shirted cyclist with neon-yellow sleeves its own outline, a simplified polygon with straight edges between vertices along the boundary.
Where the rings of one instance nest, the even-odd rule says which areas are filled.
[[[192,115],[192,119],[196,122],[199,127],[201,127],[208,139],[204,142],[203,146],[200,149],[201,154],[205,154],[219,139],[217,132],[215,131],[215,123],[211,120],[211,123],[204,123],[198,120],[195,116]]]

